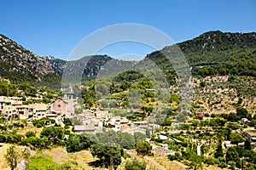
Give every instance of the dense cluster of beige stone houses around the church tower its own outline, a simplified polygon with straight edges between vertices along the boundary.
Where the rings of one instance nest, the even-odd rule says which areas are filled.
[[[35,99],[41,99],[39,94]],[[31,99],[31,98],[27,98]],[[160,125],[148,123],[147,121],[131,122],[125,116],[113,116],[109,111],[102,111],[99,108],[95,110],[83,110],[81,114],[75,113],[75,108],[79,107],[78,98],[75,97],[73,87],[67,88],[67,93],[63,97],[54,99],[49,104],[35,103],[22,104],[21,97],[6,97],[0,96],[0,113],[3,118],[9,121],[26,120],[28,124],[32,124],[34,120],[40,120],[44,117],[55,120],[55,123],[60,127],[65,127],[63,123],[64,118],[79,120],[78,124],[73,124],[73,133],[102,133],[112,129],[115,132],[121,131],[123,133],[143,133],[146,135],[146,128],[148,128],[149,136],[156,133]],[[55,123],[48,124],[47,127],[54,126]],[[104,131],[103,131],[104,127]],[[160,135],[160,139],[166,138]],[[149,141],[149,139],[148,139]],[[153,143],[152,143],[153,144]],[[166,154],[174,154],[172,150],[168,150],[168,145],[163,144],[159,148],[160,152]]]

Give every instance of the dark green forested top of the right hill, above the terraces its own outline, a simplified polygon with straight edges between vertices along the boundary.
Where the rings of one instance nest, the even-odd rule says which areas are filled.
[[[194,76],[256,76],[256,33],[209,31],[186,42],[177,43]],[[164,56],[170,46],[148,54],[162,71],[171,73],[172,63]]]

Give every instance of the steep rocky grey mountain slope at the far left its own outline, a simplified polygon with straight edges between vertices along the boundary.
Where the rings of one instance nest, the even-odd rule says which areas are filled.
[[[58,79],[49,62],[0,34],[0,77],[46,85]]]

